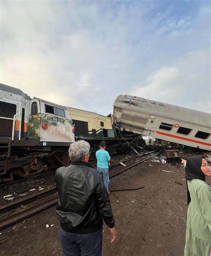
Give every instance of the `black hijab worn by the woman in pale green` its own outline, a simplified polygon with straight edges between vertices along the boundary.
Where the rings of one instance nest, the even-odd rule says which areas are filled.
[[[201,170],[203,155],[188,157],[185,167],[186,180],[203,180],[205,181],[205,175]],[[187,186],[187,205],[191,202],[191,195]]]

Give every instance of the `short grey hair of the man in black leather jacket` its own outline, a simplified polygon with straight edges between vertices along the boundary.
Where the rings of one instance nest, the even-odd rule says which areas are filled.
[[[90,145],[85,140],[74,142],[69,147],[69,158],[71,162],[80,162],[83,156],[89,153]]]

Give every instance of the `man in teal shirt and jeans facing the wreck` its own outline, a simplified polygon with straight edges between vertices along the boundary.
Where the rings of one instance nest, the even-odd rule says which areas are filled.
[[[109,193],[109,165],[110,165],[110,155],[109,152],[105,150],[105,141],[100,143],[100,149],[96,152],[97,159],[97,171],[99,172],[105,188]]]

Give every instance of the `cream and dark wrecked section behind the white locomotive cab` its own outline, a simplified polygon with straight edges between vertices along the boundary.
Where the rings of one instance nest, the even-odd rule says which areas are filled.
[[[134,140],[138,140],[140,137],[137,134],[127,137],[127,134],[120,133],[113,126],[111,117],[82,109],[66,108],[75,124],[76,140],[84,139],[89,142],[91,151],[93,151],[92,157],[95,155],[94,152],[99,149],[102,140],[106,143],[106,150],[110,154],[114,154],[127,150],[130,146],[134,147],[136,143]]]

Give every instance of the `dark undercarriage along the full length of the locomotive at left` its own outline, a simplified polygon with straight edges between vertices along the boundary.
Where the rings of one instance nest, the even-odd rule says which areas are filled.
[[[102,138],[78,137],[89,142],[93,151],[90,160],[95,159],[95,151],[99,149]],[[144,146],[141,137],[134,134],[121,134],[119,138],[103,138],[106,150],[110,154],[120,151],[134,150]],[[1,137],[0,143],[0,182],[12,181],[16,176],[30,178],[42,171],[56,170],[61,166],[68,166],[69,143],[47,143],[42,145],[39,139],[21,138],[14,141],[8,137]],[[142,147],[141,147],[142,148]]]

